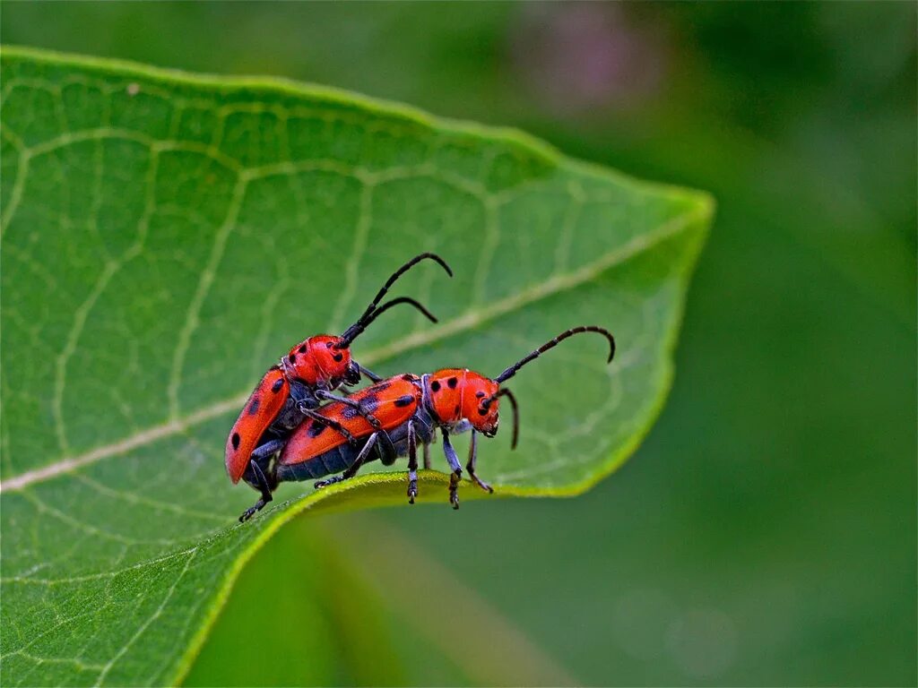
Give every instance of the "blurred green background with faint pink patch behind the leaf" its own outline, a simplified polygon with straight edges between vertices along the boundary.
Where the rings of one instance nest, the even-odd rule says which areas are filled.
[[[915,684],[915,28],[912,3],[4,4],[5,43],[353,89],[718,200],[621,471],[300,518],[186,683]]]

